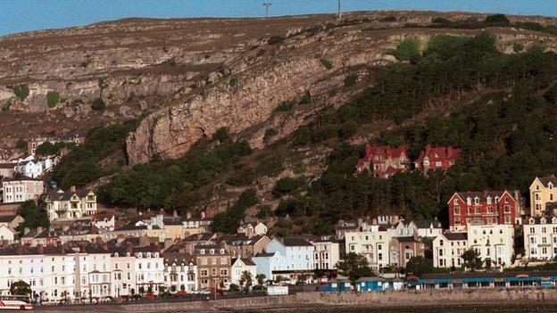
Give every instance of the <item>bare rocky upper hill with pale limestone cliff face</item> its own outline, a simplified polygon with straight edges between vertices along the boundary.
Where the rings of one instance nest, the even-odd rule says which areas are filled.
[[[396,21],[385,21],[395,15]],[[46,132],[84,132],[125,119],[143,119],[129,135],[131,164],[155,153],[175,158],[196,140],[228,127],[256,148],[291,134],[315,111],[340,105],[358,92],[348,75],[395,62],[387,54],[404,37],[478,30],[407,29],[433,16],[452,20],[483,15],[364,12],[278,19],[130,19],[87,27],[0,37],[0,147]],[[533,18],[520,18],[532,20]],[[549,23],[547,20],[534,19]],[[392,29],[380,29],[392,28]],[[373,30],[380,29],[380,30]],[[553,38],[520,29],[487,29],[502,49]],[[273,36],[283,42],[270,45]],[[278,40],[280,41],[280,40]],[[362,75],[360,75],[362,74]],[[25,86],[29,95],[16,95]],[[312,102],[298,104],[309,92]],[[54,101],[49,104],[49,96]],[[103,111],[91,109],[102,97]],[[277,112],[279,103],[295,103]],[[143,118],[145,117],[145,118]],[[273,128],[278,135],[263,141]]]

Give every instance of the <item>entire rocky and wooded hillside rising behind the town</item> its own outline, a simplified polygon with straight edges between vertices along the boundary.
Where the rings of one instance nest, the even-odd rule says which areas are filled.
[[[543,18],[485,19],[117,21],[55,30],[71,49],[51,47],[49,65],[37,51],[51,31],[3,37],[1,118],[14,123],[3,131],[16,139],[113,121],[54,179],[98,186],[121,208],[206,210],[223,231],[245,214],[269,218],[278,234],[323,234],[338,218],[386,212],[443,218],[454,190],[525,191],[557,169],[555,29]],[[28,96],[13,94],[21,85]],[[53,90],[64,102],[48,108]],[[83,111],[101,96],[104,110]],[[406,144],[412,157],[450,144],[463,157],[447,173],[354,177],[366,142]]]

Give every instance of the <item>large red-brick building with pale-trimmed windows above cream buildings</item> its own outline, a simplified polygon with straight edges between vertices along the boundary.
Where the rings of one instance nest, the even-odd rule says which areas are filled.
[[[520,218],[520,193],[483,191],[454,193],[449,200],[449,226],[465,229],[469,224],[516,225]]]

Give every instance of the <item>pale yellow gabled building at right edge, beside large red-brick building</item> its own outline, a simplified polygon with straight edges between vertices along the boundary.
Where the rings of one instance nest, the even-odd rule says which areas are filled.
[[[536,177],[530,185],[530,216],[544,217],[555,215],[553,209],[557,209],[557,177]],[[551,205],[550,205],[551,204]]]

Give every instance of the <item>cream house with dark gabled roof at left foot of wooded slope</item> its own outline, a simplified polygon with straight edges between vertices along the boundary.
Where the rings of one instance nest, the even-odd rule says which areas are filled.
[[[57,190],[46,193],[46,214],[50,221],[77,219],[96,214],[96,194],[89,189]]]

